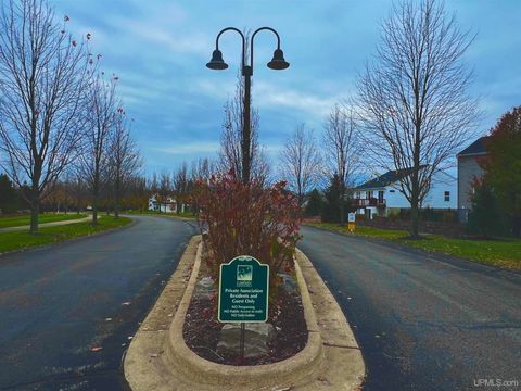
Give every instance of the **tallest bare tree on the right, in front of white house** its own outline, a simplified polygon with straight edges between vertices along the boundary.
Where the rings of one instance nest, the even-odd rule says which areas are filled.
[[[439,1],[404,1],[383,22],[376,59],[358,83],[368,152],[381,167],[406,174],[401,188],[411,237],[433,175],[450,165],[479,117],[462,61],[472,40]]]

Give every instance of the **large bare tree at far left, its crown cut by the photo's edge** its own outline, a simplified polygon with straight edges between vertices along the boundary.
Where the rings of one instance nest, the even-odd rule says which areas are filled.
[[[7,0],[0,12],[1,166],[28,181],[35,234],[40,202],[76,156],[88,56],[45,0]]]

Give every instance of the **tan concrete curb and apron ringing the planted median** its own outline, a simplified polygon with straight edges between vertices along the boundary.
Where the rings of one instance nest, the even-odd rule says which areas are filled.
[[[308,328],[306,346],[293,357],[258,366],[221,365],[198,356],[185,343],[182,327],[200,263],[201,237],[196,236],[128,349],[124,367],[132,390],[353,390],[361,383],[364,362],[345,317],[300,251],[295,269]],[[170,295],[169,300],[166,295]],[[174,305],[177,310],[169,330],[165,325],[168,319],[161,316],[165,305]],[[323,311],[316,313],[318,305],[334,313],[326,316]],[[336,365],[336,360],[347,360],[347,363]],[[346,373],[345,368],[351,368],[352,364],[355,370]],[[331,366],[338,367],[339,371],[331,371]]]

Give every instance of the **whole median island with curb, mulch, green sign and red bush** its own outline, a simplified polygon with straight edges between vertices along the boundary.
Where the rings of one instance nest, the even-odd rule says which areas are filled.
[[[127,351],[134,390],[355,390],[358,344],[307,257],[284,184],[198,184],[204,235]],[[204,239],[203,239],[204,238]]]

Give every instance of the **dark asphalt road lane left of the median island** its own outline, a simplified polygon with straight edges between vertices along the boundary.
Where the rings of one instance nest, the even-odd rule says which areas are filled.
[[[1,390],[127,389],[128,337],[195,232],[181,220],[135,218],[117,231],[0,256]]]

